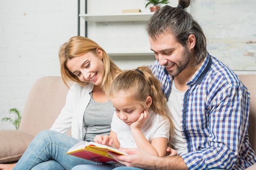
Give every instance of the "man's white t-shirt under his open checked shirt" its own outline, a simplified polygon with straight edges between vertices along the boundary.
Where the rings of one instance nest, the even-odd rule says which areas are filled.
[[[177,151],[178,155],[182,155],[188,152],[186,147],[186,139],[183,138],[181,133],[182,120],[180,119],[184,94],[185,92],[180,92],[176,89],[175,83],[173,81],[167,106],[171,112],[170,118],[174,125],[173,148]]]

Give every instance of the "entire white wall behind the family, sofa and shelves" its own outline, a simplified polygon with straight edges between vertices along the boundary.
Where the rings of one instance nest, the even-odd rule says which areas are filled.
[[[177,6],[178,0],[170,5]],[[83,0],[81,0],[83,3]],[[101,5],[99,5],[101,3]],[[144,0],[88,0],[88,13],[121,13],[122,9],[144,8]],[[209,52],[222,59],[238,74],[256,73],[256,1],[196,0],[189,9],[202,25],[209,42]],[[83,8],[82,8],[83,10]],[[105,23],[115,28],[111,37],[106,30],[88,29],[88,37],[105,50],[122,48],[148,49],[143,23]],[[89,24],[91,28],[99,26]],[[81,23],[83,35],[83,23]],[[133,32],[136,32],[133,35]],[[60,76],[58,49],[77,35],[77,0],[0,0],[0,120],[9,117],[8,110],[23,110],[31,85],[42,76]],[[117,41],[117,38],[120,38]],[[123,39],[122,39],[123,38]],[[248,43],[252,42],[252,43]],[[234,56],[234,57],[233,57]],[[154,57],[113,57],[122,69],[152,63]],[[47,107],[47,106],[46,106]],[[14,129],[1,122],[0,129]]]

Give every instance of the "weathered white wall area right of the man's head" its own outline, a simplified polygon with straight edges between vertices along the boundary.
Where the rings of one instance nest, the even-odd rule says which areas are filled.
[[[208,50],[241,72],[256,70],[256,1],[196,0],[191,14],[202,25]]]

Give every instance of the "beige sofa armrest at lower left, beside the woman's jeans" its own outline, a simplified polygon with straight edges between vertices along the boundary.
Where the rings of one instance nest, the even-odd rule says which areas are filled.
[[[0,130],[0,163],[18,161],[34,135],[17,130]]]

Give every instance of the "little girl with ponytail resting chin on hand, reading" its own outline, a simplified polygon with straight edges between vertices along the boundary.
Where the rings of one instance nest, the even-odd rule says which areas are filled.
[[[140,148],[151,155],[166,156],[173,123],[168,117],[169,110],[161,85],[151,71],[142,66],[119,74],[110,86],[109,97],[115,107],[110,135],[97,135],[94,142],[117,149]],[[115,167],[80,165],[72,170]]]

